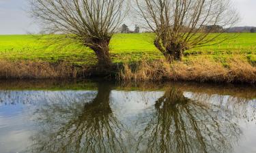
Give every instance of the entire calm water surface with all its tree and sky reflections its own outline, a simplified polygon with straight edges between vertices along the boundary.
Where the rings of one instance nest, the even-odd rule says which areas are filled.
[[[256,88],[0,82],[0,152],[256,152]]]

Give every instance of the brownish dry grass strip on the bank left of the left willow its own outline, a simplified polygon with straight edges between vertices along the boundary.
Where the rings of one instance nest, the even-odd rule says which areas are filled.
[[[78,69],[67,63],[51,64],[31,61],[0,61],[1,79],[76,78]]]

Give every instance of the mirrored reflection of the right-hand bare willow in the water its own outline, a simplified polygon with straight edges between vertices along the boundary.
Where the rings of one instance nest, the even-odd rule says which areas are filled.
[[[228,110],[191,101],[177,88],[167,88],[155,104],[137,152],[228,152],[240,129],[229,120]]]

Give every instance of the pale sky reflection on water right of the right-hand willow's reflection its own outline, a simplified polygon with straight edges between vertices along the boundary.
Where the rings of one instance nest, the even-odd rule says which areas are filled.
[[[230,120],[232,120],[232,117],[236,116],[238,118],[236,122],[242,130],[239,146],[236,145],[233,148],[234,152],[256,152],[256,99],[243,99],[229,95],[207,95],[193,92],[184,92],[184,96],[195,101],[206,101],[214,105],[219,105],[220,109],[228,109],[231,115]]]

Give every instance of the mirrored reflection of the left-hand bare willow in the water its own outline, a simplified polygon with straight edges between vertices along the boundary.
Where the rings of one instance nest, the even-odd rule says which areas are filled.
[[[123,128],[113,116],[110,94],[109,84],[99,84],[98,95],[90,103],[83,103],[86,95],[68,99],[68,105],[54,99],[57,105],[39,110],[37,122],[42,121],[42,130],[33,137],[33,152],[124,152]]]

